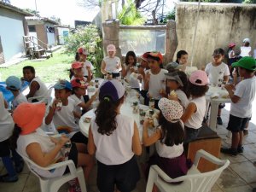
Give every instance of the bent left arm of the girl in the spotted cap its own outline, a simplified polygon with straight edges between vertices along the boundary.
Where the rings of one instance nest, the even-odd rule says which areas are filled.
[[[158,140],[160,140],[160,137],[161,137],[160,129],[156,129],[154,134],[149,137],[148,126],[149,126],[149,120],[145,119],[143,124],[143,145],[144,146],[149,146],[156,143]]]

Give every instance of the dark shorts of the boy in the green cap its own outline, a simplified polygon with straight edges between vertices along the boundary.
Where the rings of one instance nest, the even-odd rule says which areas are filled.
[[[227,130],[231,132],[243,131],[250,118],[240,118],[230,114]]]

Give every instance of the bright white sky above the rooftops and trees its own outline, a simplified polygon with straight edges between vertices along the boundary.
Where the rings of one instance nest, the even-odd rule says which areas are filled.
[[[173,1],[165,0],[168,9],[173,8]],[[74,20],[91,21],[94,19],[99,9],[88,10],[79,6],[78,0],[10,0],[10,3],[20,9],[32,9],[39,11],[42,17],[55,15],[61,18],[61,24],[74,26]],[[146,2],[145,2],[146,3]]]

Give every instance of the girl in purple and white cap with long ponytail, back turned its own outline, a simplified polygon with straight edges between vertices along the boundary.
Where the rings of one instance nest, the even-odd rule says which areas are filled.
[[[142,153],[137,125],[120,113],[125,87],[116,79],[105,81],[99,90],[100,104],[91,119],[88,152],[96,153],[99,191],[132,191],[140,178],[135,154]]]

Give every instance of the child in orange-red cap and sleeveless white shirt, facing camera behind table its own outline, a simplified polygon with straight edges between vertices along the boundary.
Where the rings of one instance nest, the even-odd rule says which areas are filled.
[[[161,93],[166,90],[165,73],[168,71],[160,67],[163,62],[163,56],[160,52],[149,52],[147,60],[150,69],[145,72],[144,88],[148,90],[148,97],[154,98],[154,108],[158,108],[157,103],[162,97]]]

